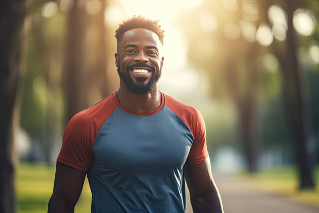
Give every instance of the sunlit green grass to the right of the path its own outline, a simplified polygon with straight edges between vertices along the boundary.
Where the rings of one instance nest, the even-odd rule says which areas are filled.
[[[299,191],[297,169],[292,167],[271,168],[253,175],[243,173],[239,177],[258,190],[319,208],[319,168],[315,170],[315,190]]]

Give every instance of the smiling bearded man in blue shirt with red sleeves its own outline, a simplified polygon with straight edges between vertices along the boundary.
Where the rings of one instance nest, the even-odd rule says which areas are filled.
[[[223,212],[200,113],[157,89],[164,57],[157,21],[134,16],[116,30],[120,88],[69,121],[49,213],[71,213],[87,175],[91,213]]]

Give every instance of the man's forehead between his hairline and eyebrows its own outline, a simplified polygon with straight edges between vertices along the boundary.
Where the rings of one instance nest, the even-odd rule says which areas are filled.
[[[120,42],[120,48],[123,49],[127,44],[136,44],[142,46],[155,45],[161,46],[159,36],[152,30],[145,28],[135,28],[126,31]]]

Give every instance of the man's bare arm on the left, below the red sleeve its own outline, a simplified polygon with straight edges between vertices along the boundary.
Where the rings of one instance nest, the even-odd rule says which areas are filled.
[[[49,201],[48,213],[74,213],[84,183],[86,172],[65,164],[56,163],[53,194]]]

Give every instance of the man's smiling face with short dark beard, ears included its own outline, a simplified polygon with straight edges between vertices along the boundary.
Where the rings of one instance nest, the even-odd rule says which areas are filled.
[[[156,88],[164,58],[160,57],[159,36],[145,28],[124,33],[115,54],[116,66],[126,88],[135,94],[147,94]]]

